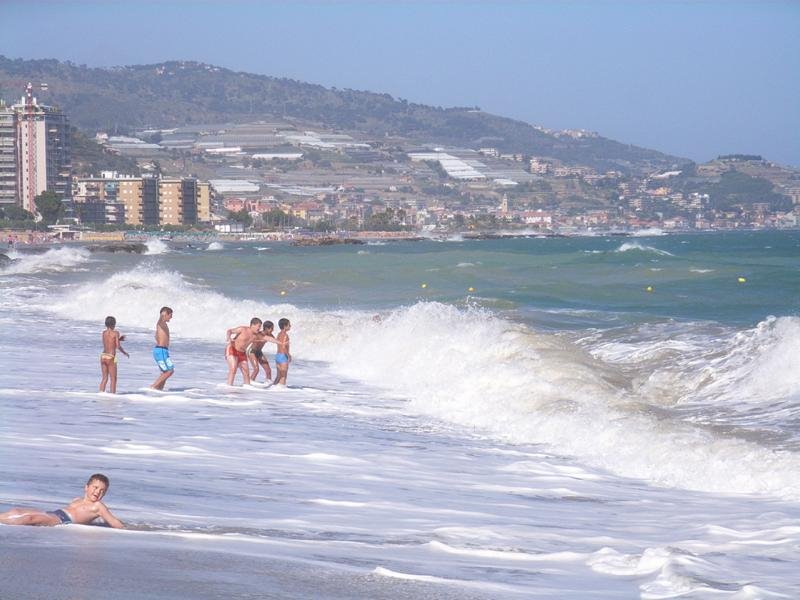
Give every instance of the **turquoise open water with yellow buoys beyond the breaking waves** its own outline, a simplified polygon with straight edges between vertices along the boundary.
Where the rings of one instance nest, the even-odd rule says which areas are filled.
[[[472,302],[534,320],[539,311],[584,310],[598,313],[598,323],[613,315],[752,325],[800,311],[798,257],[798,232],[744,232],[325,248],[230,243],[201,261],[187,257],[186,267],[247,297],[278,296],[314,308],[430,300]]]

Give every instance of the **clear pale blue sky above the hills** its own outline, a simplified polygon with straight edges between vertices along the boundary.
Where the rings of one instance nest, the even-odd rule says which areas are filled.
[[[800,0],[2,0],[0,54],[195,60],[800,167]]]

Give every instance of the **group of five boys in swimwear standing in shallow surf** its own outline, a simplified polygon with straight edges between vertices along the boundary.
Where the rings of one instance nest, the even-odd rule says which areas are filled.
[[[150,386],[155,390],[163,390],[167,379],[175,372],[175,365],[169,355],[169,321],[172,319],[172,309],[169,306],[161,307],[156,323],[156,345],[153,348],[153,360],[159,369],[159,375]],[[106,391],[106,385],[112,394],[117,392],[117,351],[125,356],[129,354],[122,347],[125,340],[116,330],[117,320],[106,317],[106,329],[102,334],[103,351],[100,353],[100,391]],[[244,384],[249,385],[255,381],[259,367],[263,368],[265,381],[272,379],[272,369],[264,355],[264,345],[267,342],[277,345],[275,352],[275,385],[286,385],[286,375],[289,372],[289,363],[292,355],[289,352],[289,330],[292,324],[289,319],[282,318],[278,321],[280,329],[277,336],[273,335],[275,326],[272,321],[262,321],[258,317],[250,319],[250,325],[240,325],[228,329],[225,334],[225,360],[228,363],[228,385],[233,385],[236,371],[242,373]]]

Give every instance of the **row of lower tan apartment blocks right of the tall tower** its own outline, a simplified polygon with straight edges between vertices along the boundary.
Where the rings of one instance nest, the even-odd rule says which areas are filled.
[[[83,223],[194,225],[211,220],[208,182],[193,177],[133,177],[112,171],[79,178],[73,198]]]

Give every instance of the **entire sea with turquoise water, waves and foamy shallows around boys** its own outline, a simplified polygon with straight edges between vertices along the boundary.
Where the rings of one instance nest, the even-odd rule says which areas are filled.
[[[7,254],[0,598],[800,598],[800,232]]]

